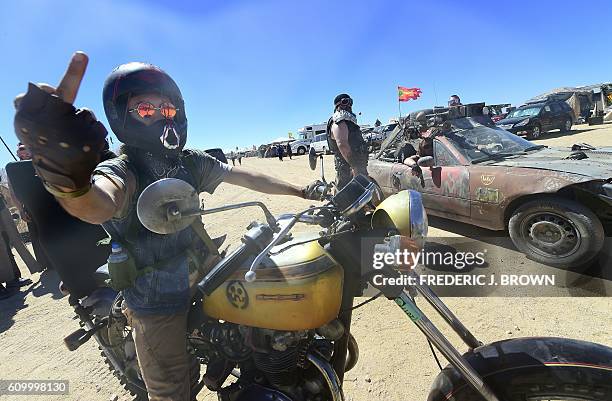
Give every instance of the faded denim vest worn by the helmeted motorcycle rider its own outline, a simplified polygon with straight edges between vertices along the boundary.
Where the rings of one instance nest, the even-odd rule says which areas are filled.
[[[136,314],[171,315],[187,310],[189,305],[189,260],[186,250],[198,238],[191,227],[173,234],[156,234],[147,230],[136,214],[136,203],[140,193],[152,182],[129,160],[128,169],[136,176],[137,190],[132,196],[128,211],[123,218],[113,218],[102,226],[114,242],[127,247],[138,268],[157,264],[157,268],[138,277],[133,287],[123,290],[127,306]],[[194,177],[185,168],[179,168],[172,178],[194,185]],[[205,248],[197,242],[201,253]],[[164,262],[166,261],[166,262]]]

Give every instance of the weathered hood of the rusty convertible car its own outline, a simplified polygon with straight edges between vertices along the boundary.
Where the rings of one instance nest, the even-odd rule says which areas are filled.
[[[580,152],[584,153],[587,158],[567,159],[570,154]],[[612,147],[577,152],[572,152],[567,148],[547,148],[529,155],[496,161],[490,165],[535,168],[607,180],[612,178]]]

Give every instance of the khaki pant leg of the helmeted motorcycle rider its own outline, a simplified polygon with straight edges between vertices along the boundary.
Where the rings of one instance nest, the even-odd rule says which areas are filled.
[[[150,401],[191,400],[187,314],[136,315],[124,308]],[[194,385],[196,383],[193,383]]]

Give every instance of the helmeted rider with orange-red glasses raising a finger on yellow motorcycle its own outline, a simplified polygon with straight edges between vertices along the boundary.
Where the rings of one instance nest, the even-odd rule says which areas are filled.
[[[149,399],[189,400],[195,383],[185,336],[188,276],[193,264],[210,261],[214,250],[193,226],[168,235],[144,228],[136,214],[140,193],[170,177],[208,193],[221,182],[305,198],[314,191],[184,150],[187,117],[181,92],[168,74],[144,63],[123,64],[105,82],[104,110],[123,146],[119,157],[100,163],[106,130],[93,113],[72,106],[87,63],[87,56],[77,52],[57,88],[30,84],[15,102],[15,130],[31,150],[46,189],[66,211],[102,224],[141,273],[154,267],[123,289],[125,314]]]

